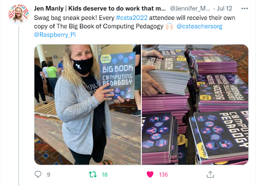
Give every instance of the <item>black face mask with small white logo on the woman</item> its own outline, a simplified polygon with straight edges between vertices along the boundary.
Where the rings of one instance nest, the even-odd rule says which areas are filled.
[[[71,59],[73,60],[73,59]],[[84,60],[80,60],[80,61],[76,61],[73,60],[74,64],[73,64],[73,68],[80,74],[85,75],[87,74],[93,64],[93,57],[91,57],[90,59],[84,59]]]

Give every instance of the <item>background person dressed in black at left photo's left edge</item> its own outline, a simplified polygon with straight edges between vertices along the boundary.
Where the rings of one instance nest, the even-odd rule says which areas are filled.
[[[38,65],[34,65],[34,97],[36,99],[36,103],[40,103],[39,101],[39,94],[40,94],[41,99],[43,101],[43,105],[46,105],[47,102],[45,99],[45,95],[43,93],[43,84],[42,84],[42,78],[40,74],[43,78],[44,83],[46,83],[46,78],[41,68]]]

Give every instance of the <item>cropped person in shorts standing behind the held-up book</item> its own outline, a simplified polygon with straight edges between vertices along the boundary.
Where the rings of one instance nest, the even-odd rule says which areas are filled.
[[[132,112],[132,116],[141,116],[141,97],[139,90],[141,87],[141,64],[140,64],[140,55],[141,55],[141,45],[136,45],[133,50],[135,52],[135,86],[134,86],[134,98],[137,105],[137,111]]]

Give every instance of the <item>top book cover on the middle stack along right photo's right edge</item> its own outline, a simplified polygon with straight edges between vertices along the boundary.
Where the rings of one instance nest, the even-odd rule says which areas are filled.
[[[200,104],[248,104],[248,85],[200,85]]]

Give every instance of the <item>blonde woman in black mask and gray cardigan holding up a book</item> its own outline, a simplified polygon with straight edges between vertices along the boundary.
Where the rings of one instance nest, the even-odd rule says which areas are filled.
[[[89,45],[66,45],[63,67],[55,86],[55,106],[74,164],[88,165],[92,158],[96,164],[111,165],[102,161],[106,136],[111,134],[108,105],[124,100],[110,98],[113,89],[104,90],[109,84],[99,86],[99,66]]]

